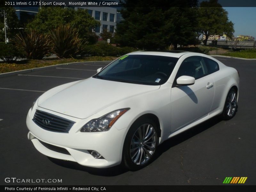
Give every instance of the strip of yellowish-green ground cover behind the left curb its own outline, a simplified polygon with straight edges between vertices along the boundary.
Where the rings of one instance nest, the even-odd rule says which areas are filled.
[[[38,68],[50,65],[57,65],[62,63],[72,63],[72,62],[81,62],[81,61],[107,61],[115,60],[116,57],[111,56],[93,56],[93,57],[84,57],[81,59],[44,59],[44,60],[22,60],[16,61],[13,63],[0,62],[0,73],[7,73],[12,71],[19,71],[23,69]]]

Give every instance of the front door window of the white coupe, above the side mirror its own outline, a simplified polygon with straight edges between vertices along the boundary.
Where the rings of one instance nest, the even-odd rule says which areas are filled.
[[[176,75],[176,79],[183,75],[199,79],[203,76],[206,76],[207,74],[207,68],[205,67],[203,58],[200,56],[192,56],[186,58],[181,63]]]

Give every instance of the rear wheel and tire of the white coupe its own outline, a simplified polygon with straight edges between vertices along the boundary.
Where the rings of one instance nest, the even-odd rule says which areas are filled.
[[[229,120],[236,115],[237,111],[237,91],[234,88],[231,88],[228,92],[225,105],[222,111],[222,119]]]

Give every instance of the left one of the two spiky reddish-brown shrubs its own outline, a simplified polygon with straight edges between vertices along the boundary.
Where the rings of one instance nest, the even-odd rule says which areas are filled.
[[[36,31],[16,34],[15,42],[17,47],[26,53],[27,59],[43,59],[51,51],[49,35],[42,35]]]

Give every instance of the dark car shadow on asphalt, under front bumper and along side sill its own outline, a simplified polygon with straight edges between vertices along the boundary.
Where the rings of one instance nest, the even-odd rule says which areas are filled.
[[[169,140],[164,141],[161,145],[159,145],[159,147],[157,149],[157,153],[154,156],[153,161],[155,159],[157,159],[159,156],[161,156],[162,153],[169,150],[173,146],[178,145],[179,143],[181,143],[185,140],[188,140],[189,138],[199,134],[200,132],[207,130],[208,128],[214,126],[215,124],[218,124],[220,121],[222,121],[220,116],[212,117],[211,119],[209,119],[195,127],[192,127],[191,129],[189,129],[185,132],[182,132],[182,133],[172,137]],[[64,161],[64,160],[55,159],[52,157],[48,157],[48,158],[54,164],[60,165],[62,167],[66,167],[69,169],[75,169],[75,170],[79,170],[79,171],[84,171],[84,172],[88,172],[92,175],[98,175],[98,176],[112,177],[112,176],[121,175],[128,171],[122,165],[117,165],[117,166],[110,167],[110,168],[92,168],[92,167],[86,167],[86,166],[80,165],[80,164],[78,164],[76,162],[72,162],[72,161]]]

